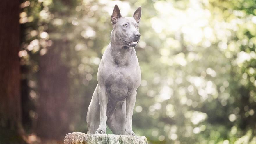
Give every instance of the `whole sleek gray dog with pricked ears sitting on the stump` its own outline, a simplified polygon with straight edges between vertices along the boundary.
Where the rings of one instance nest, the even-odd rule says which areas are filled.
[[[140,40],[138,23],[141,7],[133,17],[122,17],[117,5],[111,15],[111,42],[98,69],[98,85],[87,113],[88,134],[106,134],[106,125],[113,134],[132,135],[132,113],[136,90],[141,84],[141,70],[134,47]]]

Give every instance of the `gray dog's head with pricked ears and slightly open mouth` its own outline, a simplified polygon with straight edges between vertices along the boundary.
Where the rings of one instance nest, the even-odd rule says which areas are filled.
[[[141,37],[138,25],[140,20],[141,7],[137,8],[133,17],[122,17],[118,6],[115,5],[111,15],[115,40],[118,40],[118,43],[122,45],[135,47]]]

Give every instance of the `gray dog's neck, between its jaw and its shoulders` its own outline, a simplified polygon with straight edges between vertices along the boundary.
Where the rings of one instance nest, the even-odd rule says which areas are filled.
[[[113,56],[115,64],[118,66],[129,65],[133,47],[128,47],[122,44],[118,38],[115,37],[114,32],[111,32],[111,55]]]

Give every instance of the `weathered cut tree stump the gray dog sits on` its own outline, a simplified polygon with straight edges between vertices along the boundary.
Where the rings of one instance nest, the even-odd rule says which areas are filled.
[[[73,132],[65,136],[64,144],[147,144],[147,138],[145,136]]]

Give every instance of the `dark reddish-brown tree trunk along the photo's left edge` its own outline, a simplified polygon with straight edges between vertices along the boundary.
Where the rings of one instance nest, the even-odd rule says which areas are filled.
[[[19,0],[0,4],[0,143],[22,143]]]

